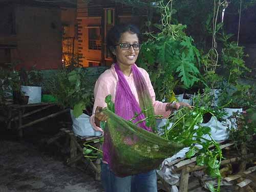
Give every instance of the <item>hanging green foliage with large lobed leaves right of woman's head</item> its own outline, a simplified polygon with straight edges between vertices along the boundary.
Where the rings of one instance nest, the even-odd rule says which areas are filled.
[[[162,25],[155,25],[159,33],[145,33],[148,40],[143,43],[138,65],[148,71],[158,100],[176,84],[184,88],[199,80],[200,53],[193,45],[193,38],[186,36],[185,25],[171,25],[172,10],[160,2]],[[177,80],[174,80],[177,79]]]

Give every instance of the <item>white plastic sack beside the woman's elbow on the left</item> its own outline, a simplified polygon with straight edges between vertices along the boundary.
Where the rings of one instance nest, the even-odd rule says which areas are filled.
[[[71,118],[73,121],[73,132],[79,136],[99,136],[102,132],[94,131],[91,123],[90,116],[86,114],[80,115],[78,118],[75,118],[73,110],[70,110]]]

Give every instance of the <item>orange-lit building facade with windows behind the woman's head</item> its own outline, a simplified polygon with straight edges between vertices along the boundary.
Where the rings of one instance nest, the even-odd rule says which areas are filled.
[[[84,67],[110,66],[112,58],[106,48],[106,34],[115,24],[143,26],[147,14],[138,10],[109,0],[90,3],[77,0],[79,63]]]

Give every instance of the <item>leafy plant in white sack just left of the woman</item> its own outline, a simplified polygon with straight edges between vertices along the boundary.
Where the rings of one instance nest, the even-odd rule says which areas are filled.
[[[83,110],[90,105],[94,82],[90,82],[86,69],[63,67],[49,80],[48,89],[63,108],[70,108],[73,131],[81,136],[100,135],[89,122],[90,116]]]

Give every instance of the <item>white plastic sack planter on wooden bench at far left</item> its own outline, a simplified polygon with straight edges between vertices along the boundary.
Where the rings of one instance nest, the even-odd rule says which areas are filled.
[[[26,96],[29,96],[28,103],[40,103],[41,102],[41,87],[36,86],[22,86],[22,92]]]

